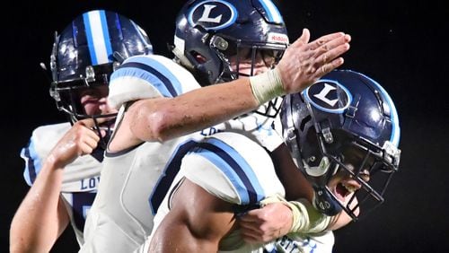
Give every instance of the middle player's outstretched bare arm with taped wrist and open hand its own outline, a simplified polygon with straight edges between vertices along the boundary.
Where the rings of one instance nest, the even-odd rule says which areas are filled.
[[[214,126],[257,109],[286,93],[301,92],[343,64],[350,36],[337,32],[309,42],[303,35],[274,70],[186,92],[173,99],[139,100],[128,109],[129,134],[140,141],[160,141]],[[251,82],[250,82],[251,81]]]

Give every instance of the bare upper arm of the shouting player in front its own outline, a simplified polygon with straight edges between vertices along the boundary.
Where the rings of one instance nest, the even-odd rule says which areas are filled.
[[[216,252],[233,229],[232,205],[185,179],[172,197],[170,212],[154,233],[150,251]]]

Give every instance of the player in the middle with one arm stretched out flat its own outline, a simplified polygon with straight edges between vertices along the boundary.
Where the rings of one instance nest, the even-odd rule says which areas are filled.
[[[288,39],[270,1],[189,1],[176,23],[173,53],[179,64],[161,56],[130,57],[111,76],[109,101],[120,112],[82,252],[139,247],[152,231],[153,215],[180,168],[180,158],[204,136],[240,131],[269,148],[282,143],[266,117],[251,114],[219,123],[260,105],[269,109],[269,100],[304,89],[342,64],[339,55],[348,50],[350,40],[334,33],[308,43],[304,31],[287,50],[285,62],[271,69]],[[296,65],[298,58],[304,60],[301,65]],[[243,72],[259,78],[251,83],[239,79]],[[207,86],[215,83],[221,84]]]

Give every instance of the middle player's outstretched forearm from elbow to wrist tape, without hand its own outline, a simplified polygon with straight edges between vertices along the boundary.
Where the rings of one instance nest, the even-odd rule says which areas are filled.
[[[235,118],[259,103],[251,92],[249,79],[216,84],[173,99],[140,100],[127,114],[132,132],[144,141],[165,141]]]

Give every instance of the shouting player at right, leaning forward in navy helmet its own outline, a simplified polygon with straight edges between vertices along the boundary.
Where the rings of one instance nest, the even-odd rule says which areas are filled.
[[[304,173],[313,184],[313,204],[295,202],[306,209],[300,215],[310,226],[305,233],[296,229],[266,243],[243,240],[239,214],[273,197],[286,203],[285,189],[266,149],[243,135],[218,133],[182,159],[154,217],[148,252],[331,252],[331,215],[344,211],[357,219],[382,204],[401,150],[398,114],[379,83],[333,71],[304,92],[286,95],[281,119],[300,168],[291,177]]]

